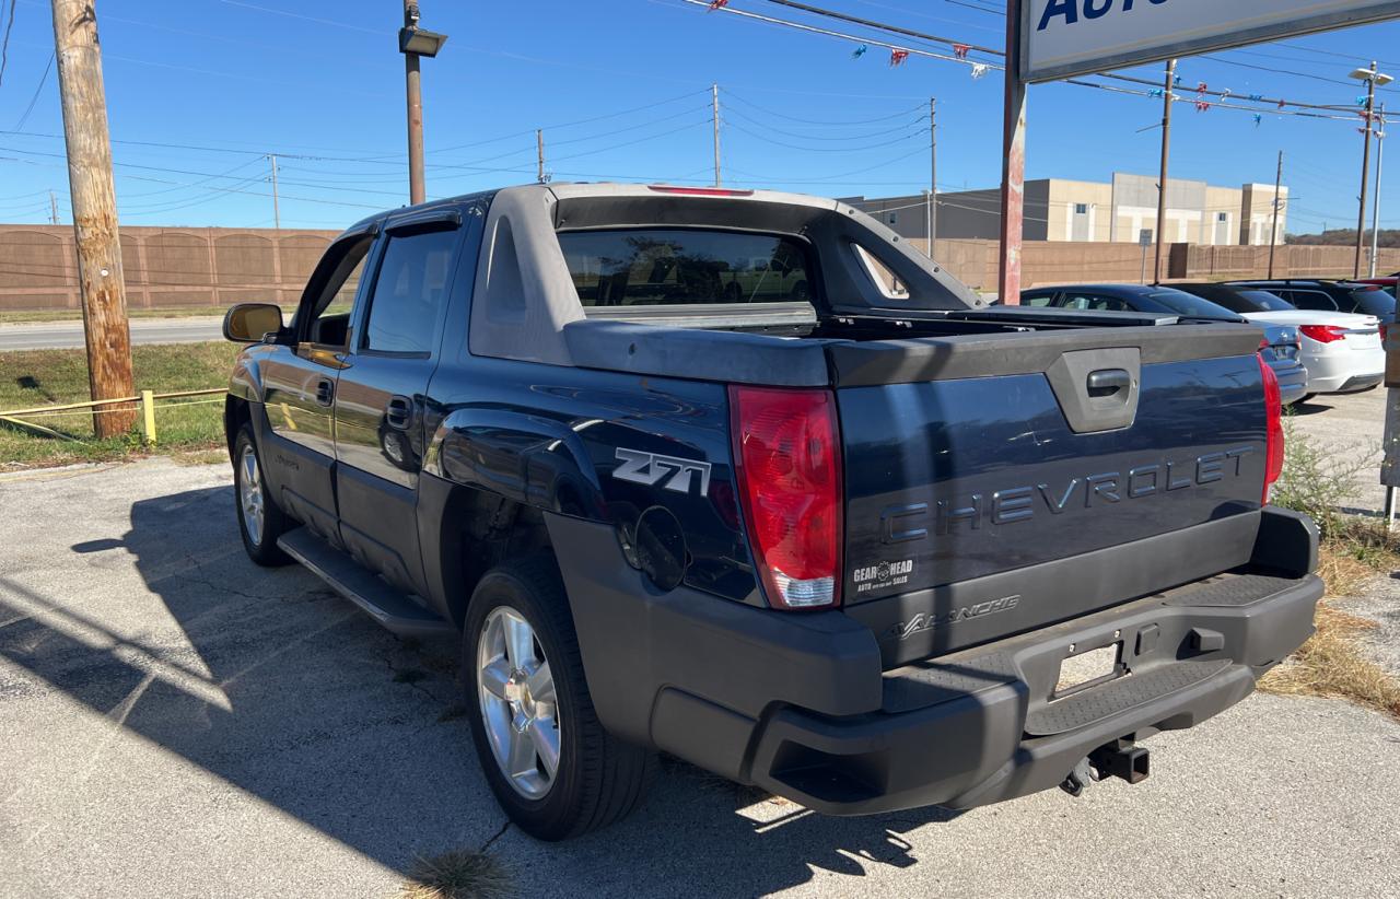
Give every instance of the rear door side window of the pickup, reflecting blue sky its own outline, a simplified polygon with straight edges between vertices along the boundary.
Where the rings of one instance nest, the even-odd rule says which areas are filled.
[[[447,304],[458,231],[392,234],[370,293],[360,349],[431,353],[438,312]]]

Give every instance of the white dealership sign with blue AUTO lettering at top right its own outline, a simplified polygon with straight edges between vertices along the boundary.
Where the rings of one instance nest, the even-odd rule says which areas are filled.
[[[1022,0],[1022,77],[1049,81],[1397,18],[1400,1]]]

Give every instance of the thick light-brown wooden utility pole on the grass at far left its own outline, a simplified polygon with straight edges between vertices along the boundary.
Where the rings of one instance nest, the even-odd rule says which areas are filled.
[[[63,98],[88,384],[94,400],[133,396],[132,335],[126,321],[112,140],[106,130],[106,91],[94,0],[53,0],[53,52]],[[92,409],[92,430],[99,438],[123,434],[134,423],[136,406],[132,403]]]

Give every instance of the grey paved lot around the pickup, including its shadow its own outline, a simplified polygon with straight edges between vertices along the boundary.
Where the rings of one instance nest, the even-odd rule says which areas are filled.
[[[451,643],[244,556],[227,466],[0,476],[3,896],[389,896],[482,847],[529,896],[1397,896],[1400,724],[1256,695],[1152,777],[833,819],[666,766],[540,844],[493,802]]]

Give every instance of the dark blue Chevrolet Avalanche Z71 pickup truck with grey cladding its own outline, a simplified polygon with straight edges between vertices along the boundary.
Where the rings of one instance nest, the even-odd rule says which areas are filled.
[[[1259,329],[986,308],[834,200],[400,209],[224,330],[249,556],[459,639],[542,839],[658,751],[836,815],[1135,783],[1322,595]]]

